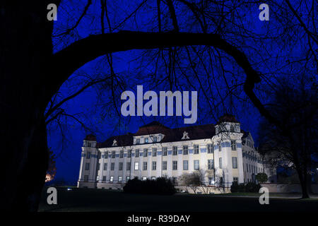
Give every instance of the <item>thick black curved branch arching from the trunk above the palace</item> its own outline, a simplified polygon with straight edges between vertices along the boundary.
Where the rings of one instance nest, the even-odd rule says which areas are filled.
[[[266,110],[255,95],[255,83],[261,81],[259,73],[252,68],[246,55],[237,47],[223,40],[217,34],[188,33],[188,32],[130,32],[122,31],[102,35],[90,35],[78,40],[69,47],[57,52],[52,57],[54,75],[58,75],[56,90],[66,79],[88,61],[113,52],[131,49],[157,49],[167,47],[184,47],[191,45],[207,45],[216,47],[229,54],[245,71],[247,79],[244,90],[259,112],[276,125],[278,121]]]

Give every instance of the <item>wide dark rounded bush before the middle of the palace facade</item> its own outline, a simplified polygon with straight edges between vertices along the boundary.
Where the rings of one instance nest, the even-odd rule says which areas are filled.
[[[158,177],[155,180],[146,179],[141,181],[137,177],[129,180],[124,186],[124,192],[135,194],[160,194],[172,195],[176,193],[175,186],[170,179]]]

